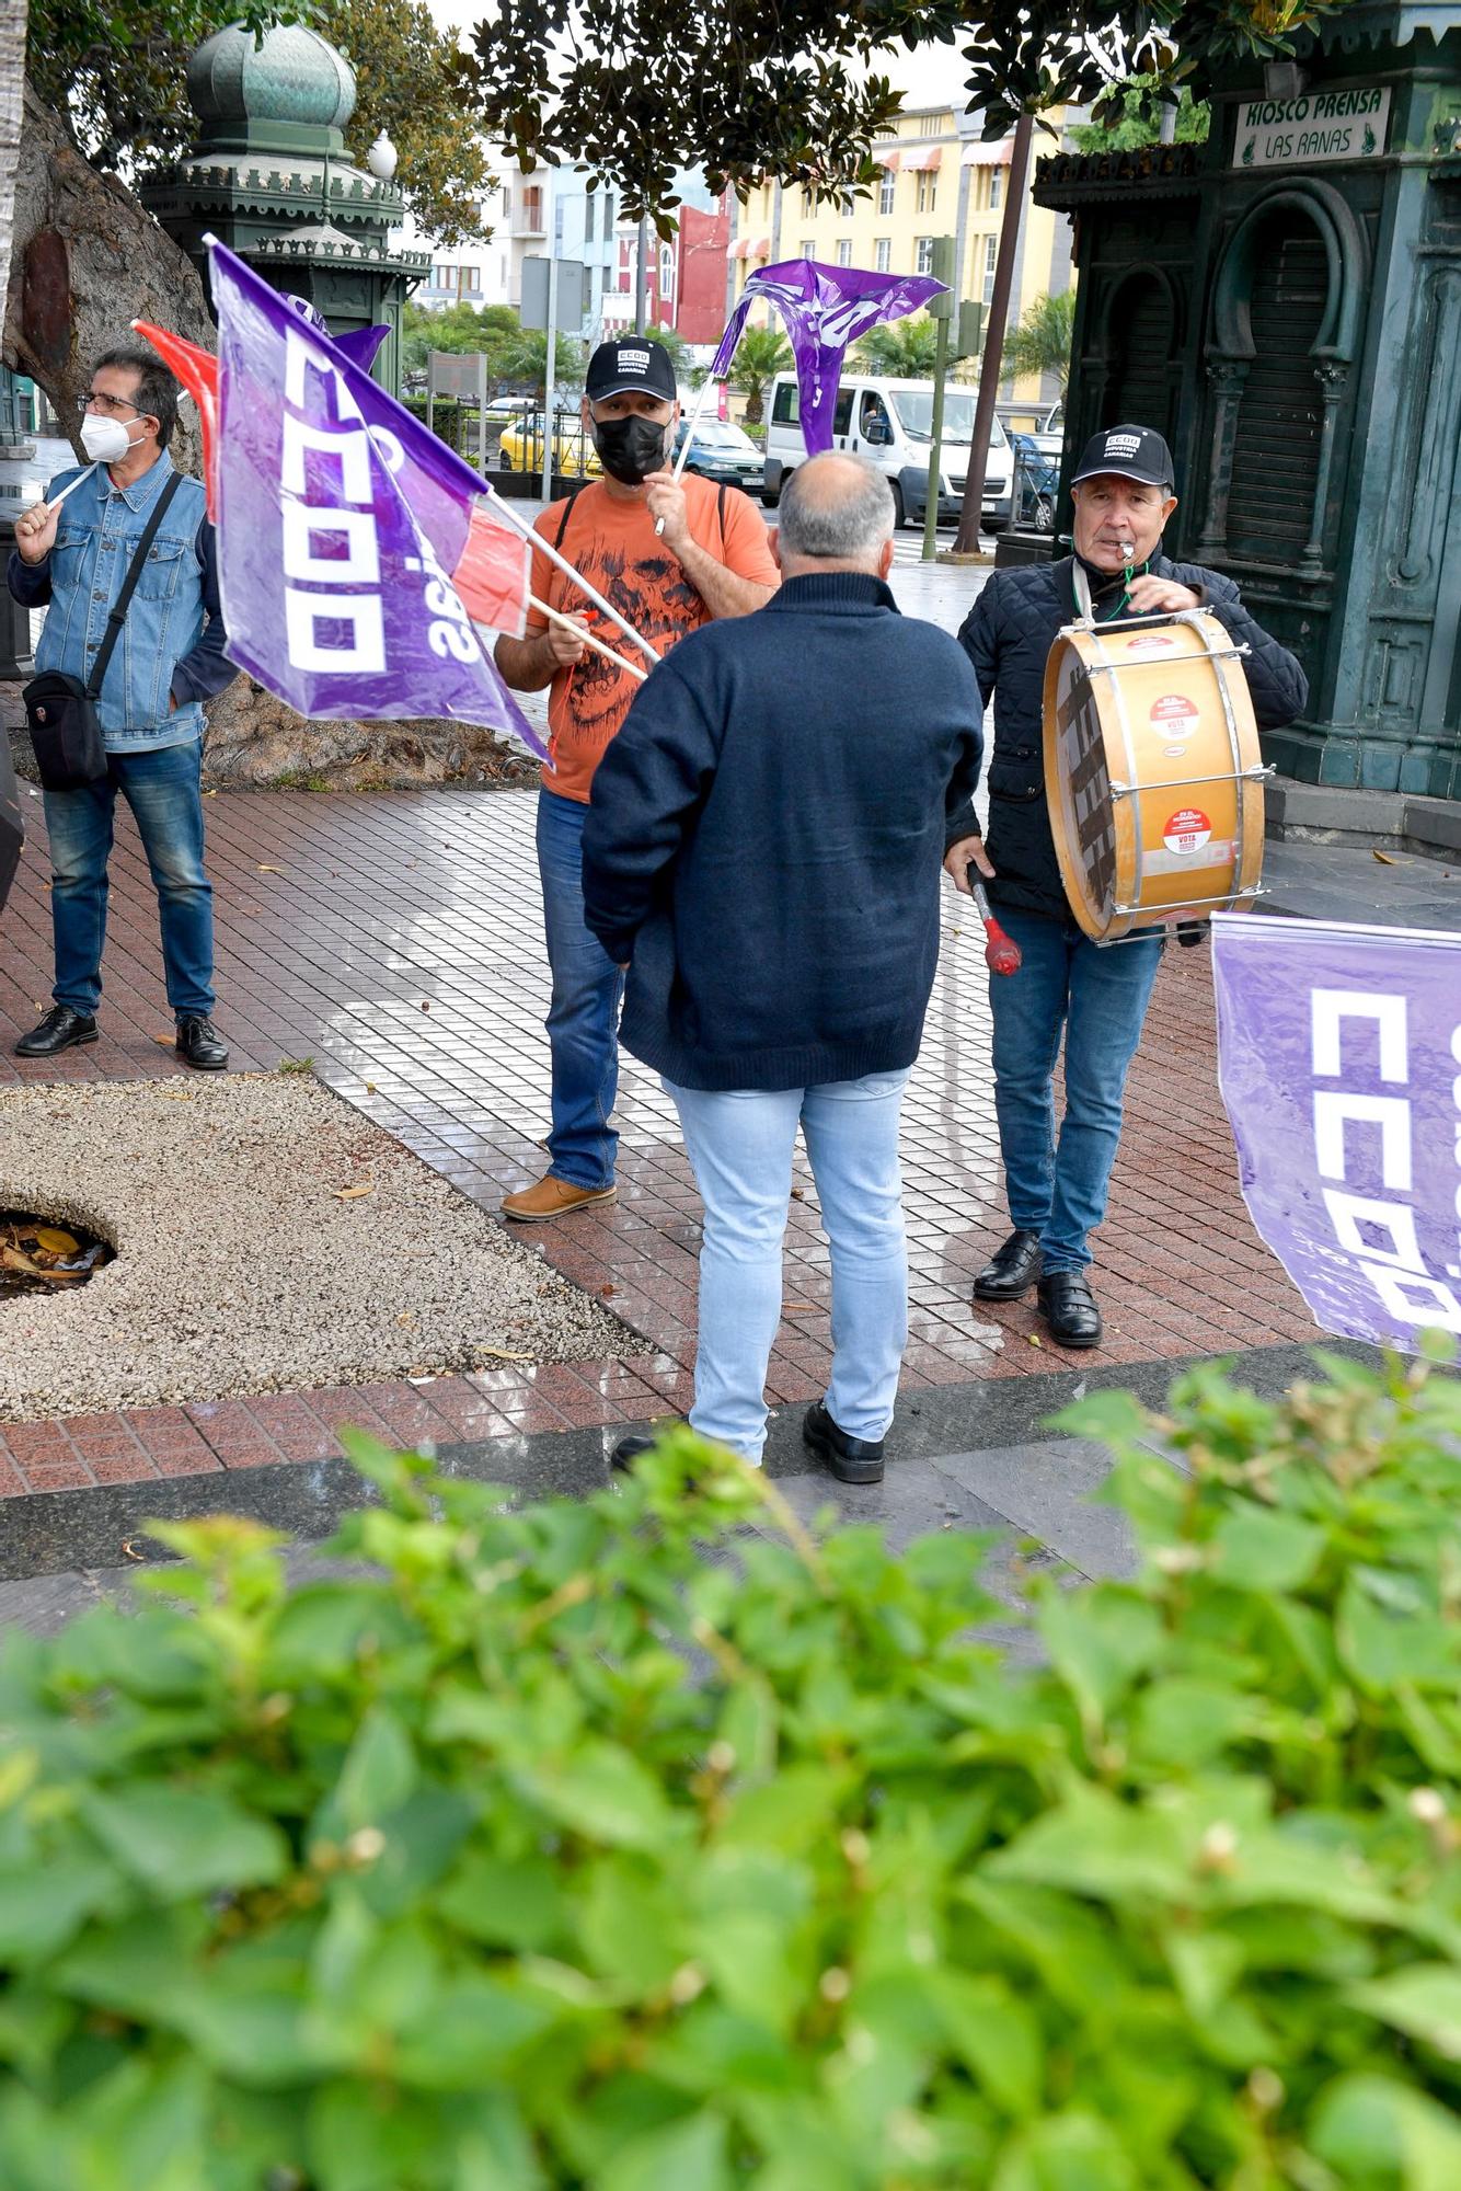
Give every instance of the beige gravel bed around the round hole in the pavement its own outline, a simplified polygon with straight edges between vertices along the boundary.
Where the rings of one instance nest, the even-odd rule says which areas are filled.
[[[0,1207],[116,1244],[85,1286],[0,1301],[4,1422],[644,1345],[302,1076],[0,1093]]]

